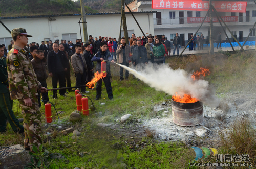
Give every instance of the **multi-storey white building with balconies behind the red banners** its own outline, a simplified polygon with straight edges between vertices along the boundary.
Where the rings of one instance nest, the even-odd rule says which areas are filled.
[[[165,2],[165,1],[164,1]],[[167,2],[167,1],[166,1]],[[172,1],[173,2],[173,1]],[[185,2],[185,1],[184,1]],[[187,18],[199,18],[205,17],[207,11],[187,11],[187,10],[168,10],[168,9],[152,9],[151,0],[134,0],[128,4],[129,8],[133,12],[138,11],[157,11],[153,14],[154,19],[154,31],[155,34],[159,37],[165,35],[168,40],[173,39],[175,33],[178,32],[179,36],[182,38],[181,46],[185,46],[188,42],[188,37],[191,34],[195,34],[197,29],[200,27],[200,23],[189,23]],[[127,9],[125,9],[127,11]],[[256,21],[256,4],[253,0],[247,1],[247,8],[245,13],[234,13],[234,12],[219,12],[220,16],[226,16],[227,18],[232,19],[233,16],[237,17],[237,21],[226,22],[230,31],[237,36],[239,41],[244,41],[248,36],[251,28],[253,27]],[[223,25],[223,24],[222,24]],[[224,26],[224,25],[223,25]],[[199,30],[198,34],[203,33],[206,43],[209,41],[209,23],[203,23],[203,26]],[[225,27],[225,26],[224,26]],[[225,28],[226,30],[226,28]],[[226,39],[224,31],[222,30],[220,23],[214,23],[214,34],[221,32],[222,40]],[[227,35],[231,38],[231,34],[226,30]],[[216,38],[214,36],[214,38]],[[252,31],[251,36],[248,41],[255,41],[255,28]],[[231,38],[231,40],[233,40]],[[233,42],[233,41],[231,41]]]

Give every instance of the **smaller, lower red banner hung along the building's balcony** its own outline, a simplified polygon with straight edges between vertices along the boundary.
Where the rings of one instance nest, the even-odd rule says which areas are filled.
[[[225,22],[237,22],[238,16],[222,16]],[[202,23],[204,17],[188,17],[187,23]],[[217,17],[212,17],[213,22],[219,22]],[[210,17],[206,17],[204,22],[210,22]]]

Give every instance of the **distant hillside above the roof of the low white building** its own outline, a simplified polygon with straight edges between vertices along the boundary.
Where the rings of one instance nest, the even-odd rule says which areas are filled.
[[[126,0],[130,3],[132,0]],[[121,0],[83,0],[86,13],[121,11]],[[0,0],[0,16],[80,13],[80,0]]]

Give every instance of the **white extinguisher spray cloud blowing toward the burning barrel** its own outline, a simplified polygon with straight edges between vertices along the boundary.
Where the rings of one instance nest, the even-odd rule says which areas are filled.
[[[219,105],[219,99],[215,96],[215,90],[210,87],[209,82],[206,80],[193,81],[192,74],[188,74],[185,70],[173,70],[167,64],[157,66],[148,64],[139,72],[123,65],[120,66],[128,69],[129,73],[158,91],[164,91],[169,95],[174,95],[176,92],[179,95],[190,94],[206,105]]]

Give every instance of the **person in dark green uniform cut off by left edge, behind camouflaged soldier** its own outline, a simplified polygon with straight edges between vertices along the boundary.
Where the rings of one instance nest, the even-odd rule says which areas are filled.
[[[6,119],[15,133],[24,133],[23,126],[19,124],[19,120],[12,111],[12,100],[8,90],[6,59],[3,56],[4,47],[0,45],[0,133],[6,131]]]

